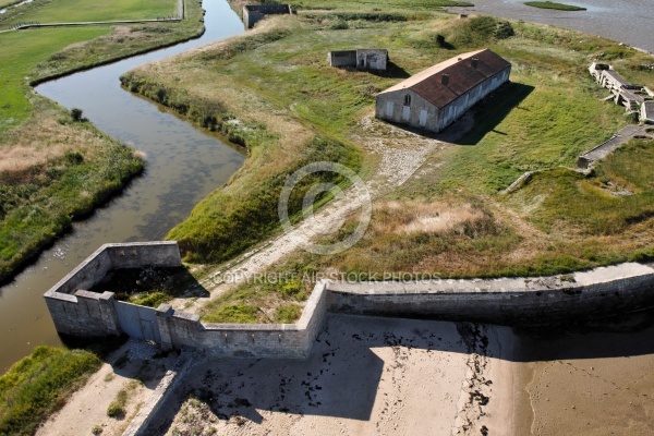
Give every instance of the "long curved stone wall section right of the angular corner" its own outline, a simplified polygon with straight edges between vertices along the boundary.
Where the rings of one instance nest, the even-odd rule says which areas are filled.
[[[330,283],[329,311],[548,325],[654,306],[654,269],[640,264],[534,279]]]

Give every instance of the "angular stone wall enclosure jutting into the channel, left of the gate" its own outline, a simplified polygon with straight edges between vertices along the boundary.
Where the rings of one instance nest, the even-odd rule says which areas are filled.
[[[177,242],[106,244],[55,284],[44,298],[57,331],[101,337],[120,335],[112,292],[88,292],[111,269],[181,265]]]

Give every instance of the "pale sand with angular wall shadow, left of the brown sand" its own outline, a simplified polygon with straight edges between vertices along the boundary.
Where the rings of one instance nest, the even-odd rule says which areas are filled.
[[[514,434],[510,330],[331,315],[306,361],[209,360],[152,434]],[[510,340],[509,340],[510,342]],[[214,433],[215,432],[215,433]]]

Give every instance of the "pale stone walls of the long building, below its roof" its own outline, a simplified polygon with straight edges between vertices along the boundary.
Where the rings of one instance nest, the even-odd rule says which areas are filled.
[[[377,95],[375,117],[438,133],[461,118],[477,101],[508,82],[510,72],[510,68],[500,71],[443,108],[435,107],[412,89],[383,93]],[[411,96],[411,106],[408,108],[404,106],[407,95]],[[423,111],[425,114],[422,114]]]

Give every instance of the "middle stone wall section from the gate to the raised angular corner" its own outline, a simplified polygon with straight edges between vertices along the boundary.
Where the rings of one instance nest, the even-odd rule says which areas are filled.
[[[327,312],[325,288],[325,282],[316,284],[298,324],[202,324],[197,315],[161,304],[161,344],[194,347],[215,356],[304,359]]]

